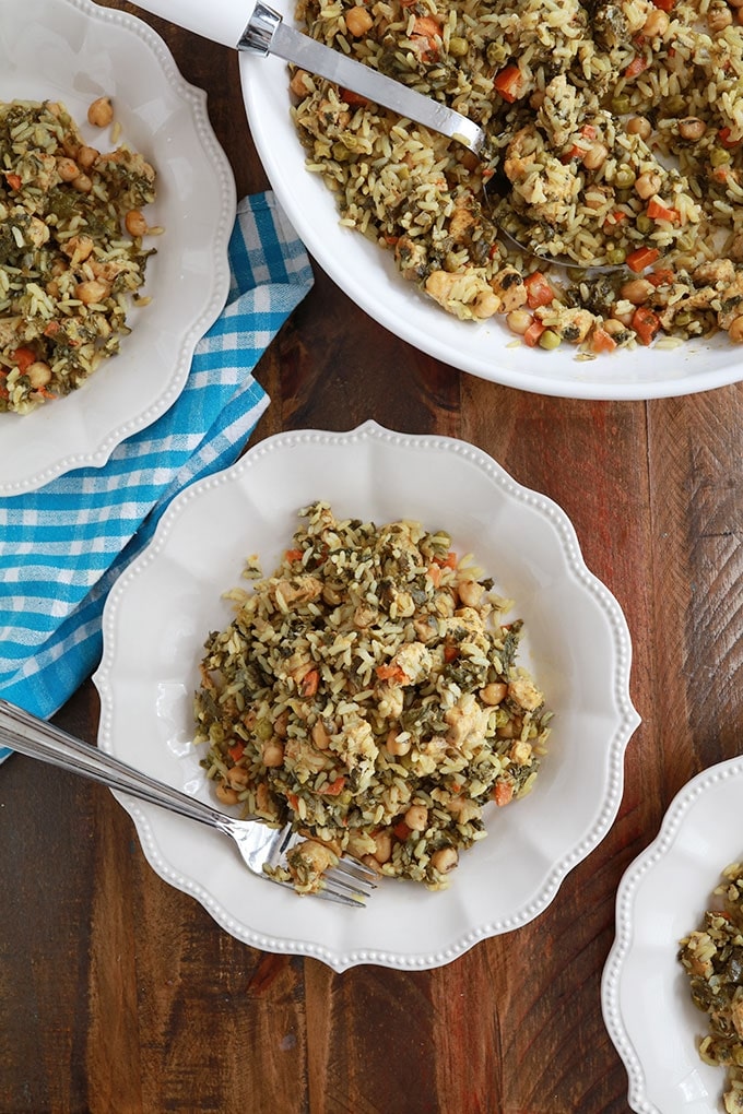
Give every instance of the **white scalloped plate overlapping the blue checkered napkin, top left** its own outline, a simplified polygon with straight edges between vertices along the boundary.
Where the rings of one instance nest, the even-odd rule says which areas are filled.
[[[150,160],[158,196],[147,209],[165,235],[147,242],[149,306],[131,310],[133,332],[80,390],[26,414],[0,414],[0,496],[31,491],[74,468],[98,467],[151,424],[183,390],[196,342],[229,289],[227,244],[235,183],[212,130],[206,96],[187,85],[146,23],[88,0],[4,3],[0,99],[62,100],[97,147],[108,131],[87,125],[88,105],[114,99],[121,141]]]

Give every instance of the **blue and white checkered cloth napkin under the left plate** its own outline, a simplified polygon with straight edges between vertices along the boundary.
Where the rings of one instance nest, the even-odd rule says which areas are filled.
[[[272,194],[238,205],[229,263],[227,304],[167,413],[102,468],[0,499],[0,695],[43,719],[98,664],[107,593],[168,502],[231,465],[268,404],[251,372],[313,282]]]

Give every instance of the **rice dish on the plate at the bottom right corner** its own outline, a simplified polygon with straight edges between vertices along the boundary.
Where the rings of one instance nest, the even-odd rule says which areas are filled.
[[[725,1111],[743,1114],[743,863],[731,863],[723,879],[715,890],[722,907],[705,912],[702,928],[684,937],[678,958],[692,1000],[708,1018],[700,1056],[727,1069]]]

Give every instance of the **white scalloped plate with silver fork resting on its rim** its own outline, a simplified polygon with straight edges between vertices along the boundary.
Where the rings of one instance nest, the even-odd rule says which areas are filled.
[[[155,870],[196,897],[228,932],[267,951],[354,964],[436,967],[485,937],[526,925],[606,834],[638,723],[628,695],[632,648],[619,606],[588,571],[554,502],[490,457],[446,437],[366,422],[348,433],[278,434],[173,504],[155,539],[115,585],[104,614],[99,745],[207,800],[192,746],[192,700],[221,598],[245,558],[277,563],[296,511],[315,498],[341,516],[417,518],[473,551],[516,600],[529,665],[554,709],[550,752],[534,792],[488,814],[489,836],[462,856],[451,888],[388,882],[364,910],[301,899],[245,871],[223,837],[123,799]]]

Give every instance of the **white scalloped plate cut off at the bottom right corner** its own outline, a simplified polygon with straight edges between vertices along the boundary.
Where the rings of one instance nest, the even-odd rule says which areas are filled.
[[[723,1108],[724,1072],[700,1059],[706,1019],[692,1004],[676,952],[682,937],[700,927],[722,870],[743,856],[742,801],[743,759],[697,774],[619,885],[602,1005],[637,1114]]]

